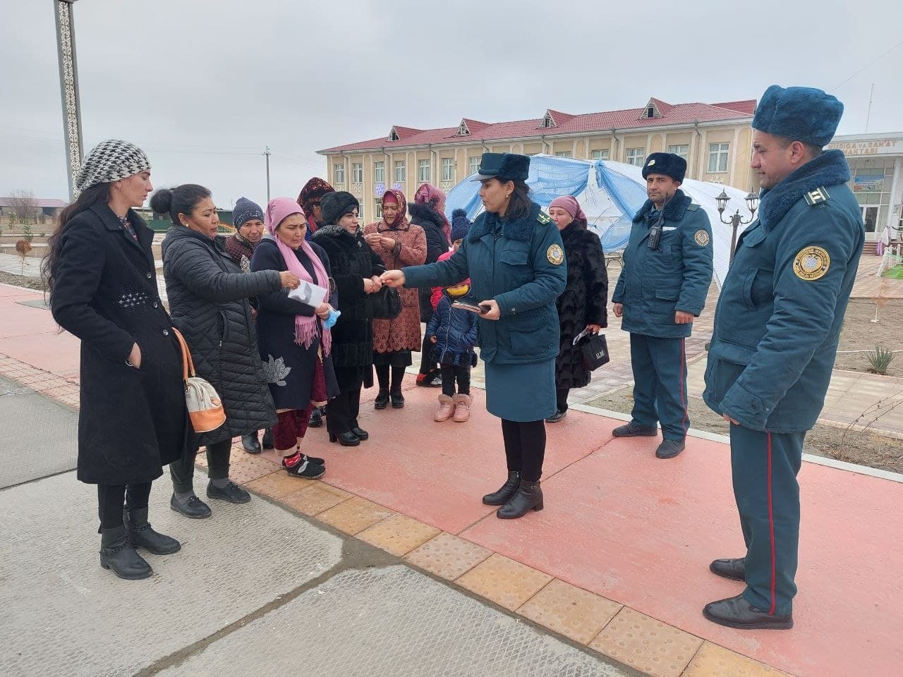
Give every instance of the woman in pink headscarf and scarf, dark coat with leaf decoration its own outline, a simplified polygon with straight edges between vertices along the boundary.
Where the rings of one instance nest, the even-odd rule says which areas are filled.
[[[330,259],[315,243],[305,241],[307,220],[290,198],[271,199],[266,207],[269,235],[251,257],[251,270],[291,270],[307,283],[330,289]],[[332,368],[332,332],[324,322],[334,314],[338,294],[333,289],[316,305],[304,303],[288,292],[257,297],[257,339],[266,380],[279,422],[273,429],[275,449],[283,467],[293,477],[316,479],[326,471],[326,461],[301,451],[314,406],[339,394]]]

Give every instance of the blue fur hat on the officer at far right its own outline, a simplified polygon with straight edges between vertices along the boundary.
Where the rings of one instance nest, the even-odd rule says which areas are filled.
[[[752,128],[822,147],[833,139],[843,104],[821,89],[772,85],[765,90]]]

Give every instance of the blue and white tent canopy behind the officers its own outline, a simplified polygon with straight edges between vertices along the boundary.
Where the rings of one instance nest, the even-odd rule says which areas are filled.
[[[573,195],[586,213],[589,227],[602,241],[602,248],[614,252],[627,246],[631,220],[646,201],[646,181],[641,168],[624,162],[608,160],[574,160],[552,155],[534,155],[530,158],[530,176],[527,184],[533,199],[544,209],[562,195]],[[740,209],[749,218],[743,201],[746,193],[720,183],[687,179],[681,190],[698,203],[712,222],[712,246],[714,247],[714,275],[718,286],[728,272],[731,256],[731,227],[721,223],[715,198],[724,190],[730,201],[727,214]],[[445,209],[449,216],[453,209],[464,209],[468,218],[475,218],[482,211],[479,200],[479,182],[470,177],[449,191]],[[743,231],[737,229],[737,235]]]

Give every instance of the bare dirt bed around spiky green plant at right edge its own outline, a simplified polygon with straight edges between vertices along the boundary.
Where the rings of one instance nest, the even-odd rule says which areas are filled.
[[[875,301],[851,299],[843,318],[841,342],[838,350],[873,350],[875,346],[888,350],[903,350],[903,299],[885,299],[875,319]],[[837,369],[868,371],[869,358],[865,353],[838,355]],[[890,362],[888,376],[903,376],[903,353]]]

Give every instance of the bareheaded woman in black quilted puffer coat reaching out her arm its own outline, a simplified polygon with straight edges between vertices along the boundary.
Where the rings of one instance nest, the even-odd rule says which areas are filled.
[[[232,438],[276,422],[273,398],[257,350],[248,297],[298,286],[298,277],[275,270],[243,273],[217,236],[219,216],[210,191],[192,183],[157,190],[151,209],[170,215],[163,239],[163,276],[170,313],[191,348],[198,376],[216,388],[226,422],[215,431],[192,436],[188,452],[172,464],[170,506],[186,517],[209,517],[209,505],[192,487],[194,455],[207,447],[207,496],[247,503],[251,496],[228,478]]]

